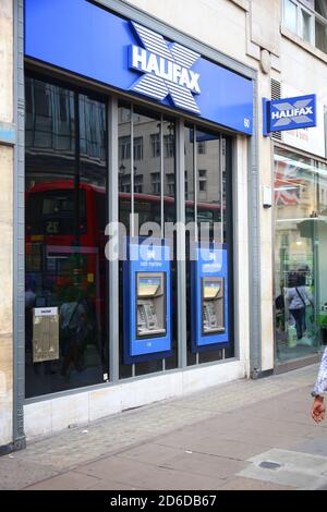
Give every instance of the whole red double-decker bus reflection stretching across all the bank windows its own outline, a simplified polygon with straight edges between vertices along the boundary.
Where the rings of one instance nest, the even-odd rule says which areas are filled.
[[[160,223],[160,196],[135,193],[140,227]],[[165,220],[174,222],[174,197],[165,197]],[[120,220],[128,225],[131,194],[120,193]],[[186,222],[194,218],[194,203],[185,202]],[[198,221],[218,222],[220,207],[197,205]],[[105,287],[106,190],[85,182],[58,180],[36,184],[26,193],[26,273],[39,276],[44,290],[78,284]],[[37,279],[36,279],[37,280]],[[105,296],[105,290],[101,290]],[[47,301],[46,301],[47,302]]]

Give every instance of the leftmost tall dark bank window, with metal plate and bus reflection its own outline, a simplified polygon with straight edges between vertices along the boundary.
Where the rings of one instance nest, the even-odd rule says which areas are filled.
[[[106,106],[26,77],[26,397],[108,379]]]

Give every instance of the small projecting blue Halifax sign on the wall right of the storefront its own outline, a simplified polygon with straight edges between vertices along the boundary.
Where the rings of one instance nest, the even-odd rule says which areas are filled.
[[[316,126],[316,95],[263,99],[264,135],[282,130]]]

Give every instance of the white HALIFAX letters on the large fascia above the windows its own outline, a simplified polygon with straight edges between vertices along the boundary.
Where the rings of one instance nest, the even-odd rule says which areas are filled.
[[[132,66],[144,73],[153,73],[160,78],[186,87],[193,93],[201,93],[198,73],[156,56],[156,53],[150,53],[144,48],[132,46]]]

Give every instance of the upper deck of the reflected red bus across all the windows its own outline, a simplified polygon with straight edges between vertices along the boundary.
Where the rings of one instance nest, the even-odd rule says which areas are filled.
[[[73,180],[44,182],[26,193],[26,243],[40,240],[47,245],[104,246],[106,227],[106,191],[81,182],[76,191]],[[129,222],[131,194],[120,193],[122,220]],[[160,223],[160,197],[134,194],[135,211],[143,222]],[[165,220],[173,222],[174,197],[164,197]],[[156,211],[159,215],[156,215]],[[185,200],[186,222],[194,218],[194,203]],[[126,217],[126,219],[125,219]],[[218,222],[218,205],[198,203],[199,221]]]

